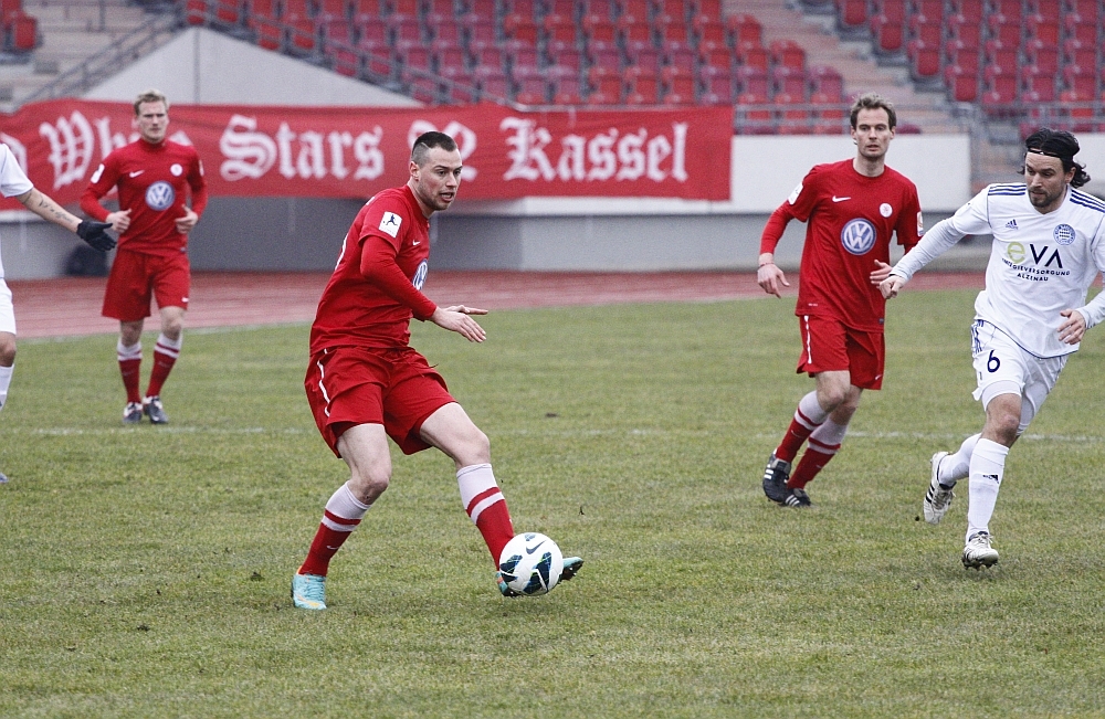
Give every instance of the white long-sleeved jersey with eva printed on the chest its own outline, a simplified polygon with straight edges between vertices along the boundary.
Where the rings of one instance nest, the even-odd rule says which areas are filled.
[[[1101,302],[1085,306],[1086,290],[1105,271],[1105,202],[1069,188],[1059,209],[1041,214],[1023,183],[991,184],[937,223],[925,235],[934,235],[929,246],[923,249],[923,240],[894,274],[908,279],[935,256],[933,250],[947,249],[941,236],[954,235],[954,244],[968,234],[993,235],[986,289],[975,300],[975,313],[1025,351],[1057,357],[1078,349],[1059,339],[1063,309],[1080,310],[1087,327],[1105,319]],[[914,256],[917,250],[923,251]]]

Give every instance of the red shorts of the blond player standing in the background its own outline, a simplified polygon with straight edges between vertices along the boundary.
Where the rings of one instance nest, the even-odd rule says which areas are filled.
[[[188,309],[191,269],[188,255],[161,256],[119,250],[104,292],[104,317],[136,323],[149,317],[149,300],[160,307]]]

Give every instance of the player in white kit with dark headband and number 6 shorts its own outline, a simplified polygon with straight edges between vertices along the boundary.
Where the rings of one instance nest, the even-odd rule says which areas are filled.
[[[986,289],[975,300],[971,350],[976,400],[986,410],[982,432],[958,452],[937,452],[925,496],[925,520],[939,524],[956,482],[968,484],[964,567],[998,561],[990,517],[1006,455],[1055,385],[1086,330],[1105,319],[1105,293],[1086,290],[1105,271],[1105,202],[1077,190],[1090,181],[1074,161],[1078,141],[1043,128],[1024,141],[1024,183],[991,184],[939,222],[880,285],[890,298],[914,273],[964,235],[992,234]]]

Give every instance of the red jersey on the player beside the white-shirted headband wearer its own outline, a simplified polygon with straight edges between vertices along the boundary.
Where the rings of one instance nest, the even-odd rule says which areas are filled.
[[[808,223],[794,314],[882,331],[886,300],[871,273],[876,260],[890,263],[891,234],[906,252],[919,241],[916,186],[888,167],[872,178],[856,172],[852,160],[818,165],[771,215],[761,253],[775,251],[791,219]]]

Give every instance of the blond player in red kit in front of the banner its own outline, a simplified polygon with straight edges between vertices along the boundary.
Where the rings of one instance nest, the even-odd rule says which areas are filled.
[[[161,404],[161,385],[169,377],[183,341],[185,311],[191,272],[188,233],[207,207],[207,182],[199,155],[190,145],[166,139],[169,101],[156,89],[134,104],[139,138],[104,158],[81,197],[90,216],[112,223],[122,233],[104,293],[104,317],[119,320],[117,346],[127,404],[123,422],[154,424],[169,417]],[[119,209],[108,212],[99,200],[112,188],[119,190]],[[191,192],[191,207],[186,203]],[[149,317],[150,297],[161,315],[161,334],[154,349],[154,370],[146,394],[139,393],[141,331]]]

